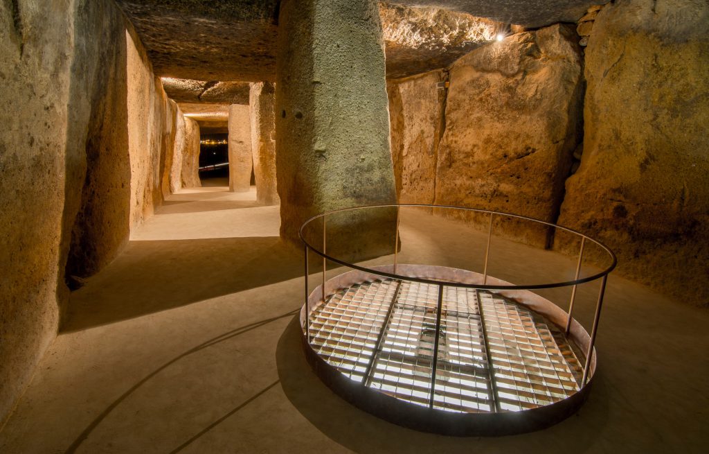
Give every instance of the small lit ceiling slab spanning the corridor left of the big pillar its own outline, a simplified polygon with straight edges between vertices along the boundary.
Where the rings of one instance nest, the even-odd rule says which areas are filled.
[[[248,82],[218,82],[162,77],[171,99],[184,103],[249,104]]]

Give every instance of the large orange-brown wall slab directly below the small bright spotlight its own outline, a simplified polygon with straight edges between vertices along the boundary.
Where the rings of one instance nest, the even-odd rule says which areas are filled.
[[[555,220],[581,140],[577,40],[572,28],[551,26],[511,35],[453,65],[436,204]],[[544,231],[514,222],[497,228],[527,243],[547,241]]]

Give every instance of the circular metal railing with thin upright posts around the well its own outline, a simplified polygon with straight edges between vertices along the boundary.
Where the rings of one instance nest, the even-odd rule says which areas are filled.
[[[400,224],[402,212],[405,210],[437,210],[440,214],[451,214],[454,213],[457,217],[465,216],[476,216],[475,221],[481,224],[480,221],[486,221],[487,231],[486,231],[486,242],[484,248],[484,260],[481,272],[476,272],[475,270],[457,270],[448,268],[444,270],[443,267],[429,267],[430,269],[436,268],[437,271],[432,275],[423,275],[417,270],[421,267],[416,267],[412,265],[401,265],[399,262],[400,255]],[[563,232],[564,235],[571,238],[571,240],[566,241],[566,244],[573,245],[574,242],[578,243],[578,258],[576,262],[576,269],[574,272],[573,279],[554,279],[551,282],[532,282],[529,284],[515,284],[512,282],[506,282],[497,277],[489,275],[489,262],[491,257],[491,249],[493,243],[491,239],[493,238],[493,232],[495,222],[499,221],[514,221],[521,224],[528,224],[530,230],[537,229],[537,231],[542,232],[546,235],[558,236],[559,232]],[[499,223],[498,222],[498,223]],[[542,229],[542,230],[540,230]],[[549,229],[545,231],[543,229]],[[341,253],[342,244],[346,244],[348,241],[357,242],[357,237],[367,236],[372,230],[376,230],[377,238],[384,238],[380,240],[379,243],[373,246],[376,253],[374,255],[379,255],[381,257],[388,257],[392,255],[391,263],[389,265],[362,265],[358,263],[360,260],[357,255],[352,255],[351,251],[347,253]],[[333,232],[335,238],[333,238]],[[546,232],[546,233],[544,233]],[[495,232],[497,234],[497,232]],[[375,275],[383,279],[392,279],[393,282],[415,282],[418,284],[427,284],[430,286],[435,286],[438,289],[437,298],[437,320],[435,323],[435,350],[433,352],[433,368],[431,373],[431,385],[430,385],[430,407],[433,408],[433,398],[435,388],[435,381],[437,377],[436,371],[436,359],[437,359],[437,349],[439,346],[439,337],[441,336],[441,312],[443,304],[443,292],[445,287],[457,287],[460,289],[473,289],[475,292],[489,292],[490,294],[501,294],[501,295],[513,295],[520,296],[525,299],[527,295],[531,299],[537,297],[532,291],[537,291],[541,289],[555,289],[559,287],[571,287],[571,297],[569,299],[568,309],[560,309],[559,307],[554,307],[553,309],[548,309],[549,314],[553,313],[552,318],[553,323],[559,325],[560,330],[569,336],[572,323],[574,328],[576,328],[575,333],[582,333],[579,335],[582,344],[585,348],[585,362],[583,364],[583,376],[579,382],[580,391],[584,391],[586,385],[591,380],[592,372],[595,370],[595,350],[594,344],[596,342],[596,334],[598,331],[598,323],[601,316],[601,308],[603,306],[603,296],[605,294],[605,286],[607,282],[608,275],[617,264],[617,259],[615,254],[610,248],[608,248],[603,243],[595,240],[589,236],[575,231],[571,228],[566,228],[563,226],[557,226],[553,223],[546,221],[541,221],[539,219],[530,218],[527,216],[520,216],[516,214],[501,213],[498,211],[490,211],[484,209],[471,209],[457,206],[440,206],[432,204],[384,204],[384,205],[370,205],[370,206],[358,206],[350,209],[340,209],[328,211],[323,214],[318,214],[309,218],[301,226],[299,232],[299,237],[303,241],[305,261],[304,261],[304,275],[305,275],[305,301],[303,306],[303,314],[301,314],[301,321],[303,322],[303,336],[306,341],[305,345],[308,348],[311,346],[311,311],[313,306],[317,304],[326,304],[328,297],[332,294],[327,291],[327,283],[329,282],[326,277],[327,272],[327,262],[333,262],[338,265],[350,268],[351,270],[356,270],[360,272],[360,275]],[[329,238],[328,238],[329,236]],[[345,238],[342,238],[345,237]],[[386,238],[390,238],[387,240]],[[497,238],[497,236],[495,237]],[[333,243],[335,243],[333,245]],[[388,245],[386,243],[389,243]],[[337,245],[339,244],[339,246]],[[593,272],[588,273],[588,275],[582,276],[581,270],[584,263],[584,253],[588,248],[593,245],[595,248],[595,262],[605,261],[605,264],[596,269]],[[338,250],[339,248],[339,250]],[[568,248],[567,248],[568,249]],[[323,260],[323,270],[322,270],[322,283],[319,289],[310,292],[308,285],[309,272],[309,253],[314,253],[318,255]],[[360,250],[359,253],[362,253]],[[364,256],[372,257],[372,252],[364,253]],[[442,271],[441,271],[442,270]],[[439,274],[436,274],[439,273]],[[440,274],[442,273],[442,274]],[[444,276],[445,275],[445,276]],[[336,281],[337,279],[330,279],[330,281]],[[573,318],[574,311],[574,301],[576,300],[576,289],[581,284],[586,284],[588,282],[593,282],[600,280],[600,288],[598,291],[598,298],[596,299],[596,308],[593,316],[593,323],[591,326],[591,333],[588,335],[584,328]],[[341,282],[340,282],[341,283]],[[332,287],[332,286],[331,286]],[[398,292],[398,288],[396,292]],[[319,290],[319,292],[318,292]],[[480,296],[480,294],[478,294]],[[546,301],[546,300],[544,300]],[[548,301],[547,301],[548,302]],[[392,300],[391,305],[394,302]],[[544,306],[546,303],[542,304]],[[551,305],[552,303],[549,303]],[[558,306],[558,305],[557,305]],[[559,310],[563,311],[562,315],[559,315]],[[389,308],[389,313],[391,313],[391,307]],[[384,323],[386,325],[386,321]],[[579,331],[579,327],[581,330]],[[384,326],[381,327],[383,333]],[[379,334],[379,340],[377,341],[377,348],[379,348],[379,343],[381,342],[382,334]],[[374,352],[376,355],[376,351]],[[368,370],[372,367],[369,365]],[[364,380],[366,382],[366,380]],[[585,397],[584,397],[585,399]],[[569,399],[567,399],[569,400]],[[577,399],[578,400],[578,399]],[[580,405],[580,404],[579,404]]]

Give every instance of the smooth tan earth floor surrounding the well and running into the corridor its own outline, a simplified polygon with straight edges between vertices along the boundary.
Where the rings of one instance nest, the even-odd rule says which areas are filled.
[[[403,210],[398,260],[479,271],[485,239]],[[455,438],[381,421],[318,380],[296,319],[302,267],[301,248],[279,239],[279,208],[257,206],[253,189],[174,194],[72,294],[0,452],[706,452],[709,311],[611,275],[580,411],[544,431]],[[493,238],[496,277],[539,282],[574,270],[573,258]],[[569,290],[545,297],[566,306]],[[597,282],[579,288],[575,315],[587,327],[597,292]]]

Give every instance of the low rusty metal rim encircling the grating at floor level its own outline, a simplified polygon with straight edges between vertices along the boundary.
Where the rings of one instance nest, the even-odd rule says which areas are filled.
[[[452,268],[449,269],[453,270]],[[346,272],[343,275],[328,279],[325,283],[332,282],[344,275],[357,272],[362,272],[362,270]],[[379,272],[376,272],[376,270],[367,273],[379,275]],[[456,287],[453,282],[444,282],[443,285]],[[479,286],[474,287],[480,288]],[[306,360],[308,360],[308,363],[311,365],[313,372],[318,375],[318,378],[332,389],[335,394],[342,397],[347,402],[350,402],[350,404],[357,406],[357,408],[384,419],[385,421],[417,431],[438,433],[447,436],[507,436],[538,431],[553,426],[574,414],[581,408],[584,402],[586,402],[586,399],[588,399],[588,393],[591,390],[591,384],[593,383],[593,377],[596,375],[598,365],[596,348],[593,348],[591,353],[592,360],[589,362],[590,371],[588,378],[586,383],[580,387],[579,391],[566,397],[566,399],[554,402],[553,404],[538,406],[534,409],[489,413],[456,413],[420,406],[384,394],[384,392],[378,389],[364,387],[361,383],[350,380],[350,378],[343,375],[337,368],[328,364],[323,358],[320,358],[320,355],[311,347],[308,340],[308,333],[304,328],[303,322],[310,316],[310,300],[317,299],[320,301],[321,293],[322,290],[320,286],[313,289],[311,294],[308,295],[308,301],[301,306],[301,310],[299,311],[298,319],[301,326],[301,342]],[[535,311],[537,314],[546,316],[549,321],[557,324],[556,321],[554,321],[556,318],[554,311],[561,311],[559,306],[533,292],[529,293],[534,296],[535,307],[532,308],[529,304],[525,304],[525,301],[518,301],[518,304],[526,306],[527,309]],[[537,310],[537,307],[540,306],[540,301],[542,301],[543,309],[548,310]],[[306,319],[303,319],[303,317],[306,317]],[[584,343],[589,341],[591,336],[589,336],[588,331],[576,320],[572,320],[574,322],[574,330],[571,331],[573,341],[579,345],[579,347],[585,349]],[[558,324],[557,327],[559,327]]]

